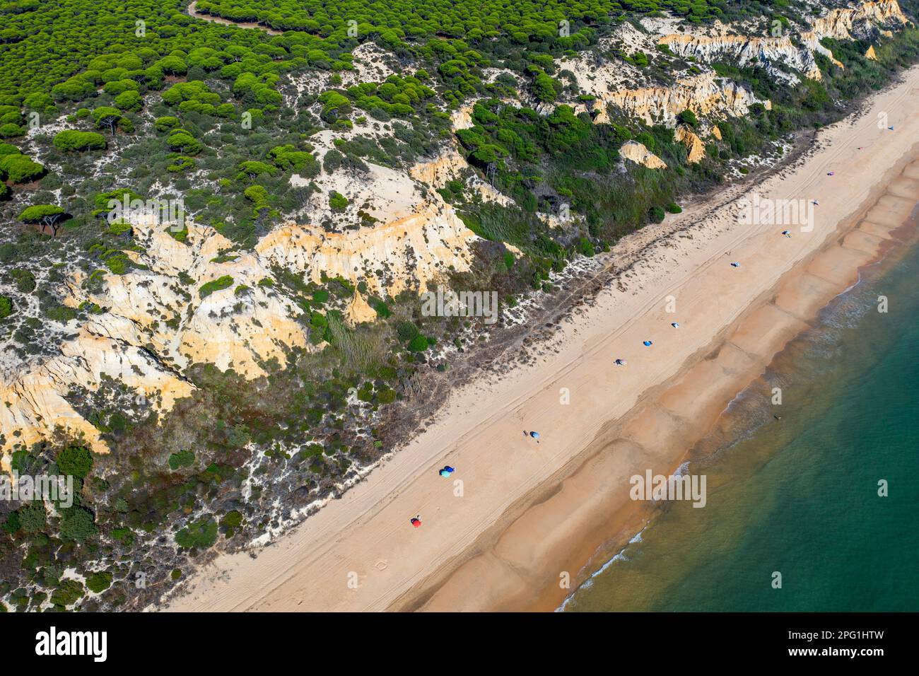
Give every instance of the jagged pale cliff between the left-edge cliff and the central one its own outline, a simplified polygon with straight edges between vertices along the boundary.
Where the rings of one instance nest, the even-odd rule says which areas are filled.
[[[251,253],[221,259],[232,242],[209,227],[187,227],[183,243],[150,221],[134,223],[134,238],[145,251],[127,253],[148,269],[108,275],[100,292],[84,294],[72,284],[74,303],[106,308],[94,326],[118,327],[120,339],[153,346],[178,371],[209,362],[254,378],[265,372],[260,362],[283,365],[285,347],[305,347],[295,320],[299,308],[259,284],[271,277],[269,264]],[[233,282],[201,298],[202,285],[224,277]]]

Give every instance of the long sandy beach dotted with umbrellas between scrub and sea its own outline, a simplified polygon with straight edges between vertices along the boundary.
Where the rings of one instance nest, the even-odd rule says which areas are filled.
[[[672,232],[562,321],[538,363],[458,389],[366,481],[257,556],[220,556],[168,610],[558,607],[651,515],[629,477],[672,472],[895,240],[919,201],[917,105],[914,67],[859,117],[823,129],[806,161],[627,238]],[[812,229],[739,223],[747,192],[818,201]],[[457,468],[448,479],[445,464]]]

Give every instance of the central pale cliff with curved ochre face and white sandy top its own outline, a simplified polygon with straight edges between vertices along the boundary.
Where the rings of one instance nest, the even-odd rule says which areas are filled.
[[[451,269],[469,269],[469,247],[478,237],[435,191],[468,167],[455,148],[408,173],[367,166],[366,172],[339,170],[314,179],[320,189],[311,197],[312,223],[343,227],[328,231],[316,224],[285,223],[255,246],[256,255],[315,282],[323,272],[353,283],[366,281],[382,296],[422,287]],[[297,176],[291,182],[305,183]],[[329,207],[331,190],[348,200],[344,212]],[[372,224],[353,226],[368,217]]]

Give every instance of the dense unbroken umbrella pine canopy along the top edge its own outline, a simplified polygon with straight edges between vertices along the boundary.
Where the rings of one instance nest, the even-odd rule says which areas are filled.
[[[271,28],[298,31],[272,37],[262,31],[236,29],[189,17],[187,3],[183,0],[128,0],[104,4],[91,0],[67,3],[17,0],[0,5],[3,24],[0,30],[0,96],[8,100],[35,92],[50,92],[52,86],[74,74],[93,69],[93,60],[107,53],[125,54],[123,67],[135,79],[142,79],[138,71],[171,52],[184,52],[178,58],[187,61],[185,55],[196,49],[223,51],[231,45],[238,51],[234,54],[237,60],[249,51],[266,57],[270,63],[262,63],[263,70],[271,72],[311,63],[341,68],[347,67],[348,59],[345,57],[342,62],[339,58],[359,42],[369,39],[379,40],[384,46],[399,47],[405,41],[417,45],[439,38],[457,40],[460,51],[474,48],[486,52],[489,42],[510,40],[516,49],[563,50],[586,46],[586,40],[575,35],[578,26],[608,23],[610,17],[620,17],[625,12],[669,10],[699,21],[738,11],[768,13],[773,4],[785,6],[787,2],[202,0],[198,4],[202,13],[234,21],[261,21]],[[571,23],[569,36],[560,35],[559,22],[562,20]],[[357,38],[348,34],[349,27],[353,26],[357,26]],[[314,53],[317,51],[324,52],[323,56]],[[137,58],[129,59],[128,55]],[[170,74],[169,65],[161,64],[165,74]]]

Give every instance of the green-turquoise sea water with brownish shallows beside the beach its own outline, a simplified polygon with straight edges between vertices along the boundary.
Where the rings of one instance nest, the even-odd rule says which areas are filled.
[[[564,609],[919,611],[917,469],[913,242],[865,270],[693,450],[708,505],[668,504]]]

